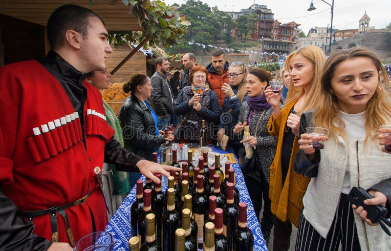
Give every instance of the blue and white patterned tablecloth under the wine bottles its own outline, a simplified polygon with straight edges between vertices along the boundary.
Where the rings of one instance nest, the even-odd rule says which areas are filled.
[[[226,153],[224,151],[214,149],[218,153]],[[240,201],[247,203],[247,226],[253,232],[254,235],[254,251],[267,251],[266,243],[263,239],[260,225],[255,215],[253,203],[251,202],[250,195],[248,194],[247,187],[244,183],[243,174],[240,170],[239,164],[232,164],[232,168],[236,173],[236,188],[239,189]],[[145,177],[141,176],[141,180],[144,181]],[[162,190],[167,189],[167,178],[163,176]],[[117,212],[113,215],[109,224],[106,226],[106,231],[111,233],[117,240],[114,246],[114,251],[129,251],[128,241],[131,237],[130,233],[130,206],[136,199],[136,186],[134,186],[128,197],[124,200]]]

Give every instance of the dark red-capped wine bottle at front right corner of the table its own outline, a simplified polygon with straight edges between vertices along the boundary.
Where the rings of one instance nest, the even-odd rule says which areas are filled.
[[[247,227],[247,204],[239,203],[238,228],[232,234],[232,250],[248,251],[254,249],[254,235]]]

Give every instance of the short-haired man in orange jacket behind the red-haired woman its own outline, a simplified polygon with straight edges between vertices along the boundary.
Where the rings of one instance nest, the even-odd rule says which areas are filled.
[[[225,53],[222,49],[216,49],[212,52],[212,63],[206,66],[208,70],[209,86],[217,94],[218,105],[221,107],[224,103],[225,93],[221,90],[224,83],[229,83],[227,77],[229,63],[225,59]]]

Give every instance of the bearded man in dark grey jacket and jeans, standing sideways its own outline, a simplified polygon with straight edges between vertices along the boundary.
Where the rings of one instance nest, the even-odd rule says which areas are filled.
[[[170,125],[171,115],[174,114],[174,97],[170,84],[165,76],[170,70],[170,63],[167,58],[157,58],[156,72],[151,77],[151,105],[158,116],[159,130]]]

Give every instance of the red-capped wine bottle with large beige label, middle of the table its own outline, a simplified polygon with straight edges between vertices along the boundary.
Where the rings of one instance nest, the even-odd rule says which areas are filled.
[[[202,175],[197,176],[197,194],[193,199],[194,219],[198,226],[197,242],[198,249],[202,249],[203,243],[203,226],[205,221],[205,214],[207,212],[207,198],[204,194],[204,183]]]

